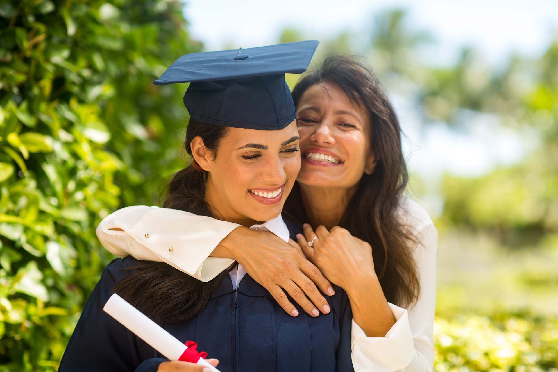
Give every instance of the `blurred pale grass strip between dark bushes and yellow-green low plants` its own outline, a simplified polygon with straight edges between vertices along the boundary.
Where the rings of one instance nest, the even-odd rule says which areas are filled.
[[[436,310],[456,313],[532,311],[558,317],[558,248],[508,248],[490,235],[441,234]]]

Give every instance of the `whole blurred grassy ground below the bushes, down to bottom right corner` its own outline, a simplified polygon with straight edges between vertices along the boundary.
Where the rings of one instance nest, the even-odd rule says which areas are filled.
[[[555,236],[513,249],[497,241],[441,229],[435,370],[557,372]]]

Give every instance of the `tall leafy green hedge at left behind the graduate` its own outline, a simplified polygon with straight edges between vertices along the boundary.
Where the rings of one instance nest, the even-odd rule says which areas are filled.
[[[0,4],[0,370],[53,371],[110,260],[95,227],[182,166],[178,1]]]

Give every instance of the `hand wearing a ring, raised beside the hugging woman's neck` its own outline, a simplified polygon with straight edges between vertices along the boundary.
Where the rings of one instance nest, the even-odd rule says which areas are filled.
[[[314,240],[312,247],[308,247],[308,242],[315,236],[318,239]],[[352,284],[360,283],[359,279],[376,277],[372,247],[346,229],[334,226],[328,231],[320,225],[314,233],[309,224],[304,224],[304,235],[298,234],[297,240],[324,276],[345,291],[349,291]]]

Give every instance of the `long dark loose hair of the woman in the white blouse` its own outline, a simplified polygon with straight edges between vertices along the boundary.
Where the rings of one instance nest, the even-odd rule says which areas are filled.
[[[369,140],[378,158],[374,172],[360,178],[339,225],[372,246],[374,268],[387,301],[407,307],[419,297],[420,283],[411,251],[417,241],[397,217],[408,181],[397,115],[376,75],[355,59],[340,55],[329,56],[299,80],[292,91],[295,106],[306,89],[324,82],[338,85],[354,104],[368,111]],[[298,183],[286,200],[285,214],[307,220]]]

